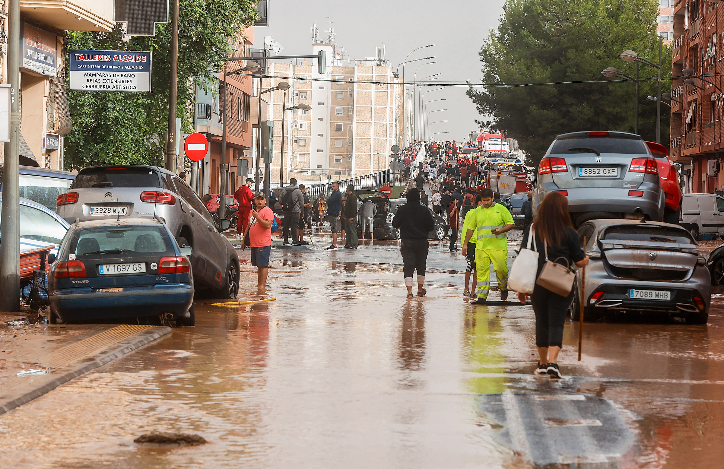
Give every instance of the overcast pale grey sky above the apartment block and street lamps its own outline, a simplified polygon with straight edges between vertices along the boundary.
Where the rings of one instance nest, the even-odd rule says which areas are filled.
[[[497,28],[503,3],[504,0],[269,0],[270,26],[255,28],[254,42],[261,47],[264,36],[271,35],[284,46],[282,55],[311,54],[313,23],[316,22],[324,41],[329,30],[328,17],[331,17],[337,47],[350,59],[374,56],[375,48],[384,43],[385,59],[396,69],[413,49],[435,44],[410,56],[408,60],[426,56],[435,59],[406,64],[405,81],[412,81],[412,72],[419,64],[435,61],[437,64],[419,69],[418,80],[440,73],[437,81],[478,82],[481,77],[478,52],[490,28]],[[426,101],[446,100],[427,106],[427,111],[447,109],[430,116],[432,122],[448,121],[434,124],[431,132],[450,132],[436,138],[460,142],[478,128],[475,119],[479,119],[479,114],[466,96],[466,89],[448,87],[425,95]]]

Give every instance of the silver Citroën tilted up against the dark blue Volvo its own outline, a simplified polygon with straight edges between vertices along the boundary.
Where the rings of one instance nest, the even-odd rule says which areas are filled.
[[[237,295],[239,258],[221,234],[230,221],[216,226],[201,198],[167,169],[145,165],[81,169],[68,192],[59,195],[56,213],[70,223],[159,216],[180,246],[193,248],[191,266],[197,287],[208,287],[224,298]]]

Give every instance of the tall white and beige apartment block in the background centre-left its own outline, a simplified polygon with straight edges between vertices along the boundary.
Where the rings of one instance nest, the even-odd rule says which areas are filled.
[[[375,59],[342,60],[329,43],[314,43],[313,54],[327,51],[327,70],[317,74],[316,60],[305,64],[273,63],[262,88],[281,81],[292,88],[269,93],[274,120],[274,162],[271,184],[279,184],[282,109],[306,103],[311,111],[286,111],[282,180],[327,181],[357,177],[390,167],[390,148],[402,146],[404,100],[392,68]],[[378,60],[377,63],[382,62]],[[397,138],[396,138],[397,136]]]

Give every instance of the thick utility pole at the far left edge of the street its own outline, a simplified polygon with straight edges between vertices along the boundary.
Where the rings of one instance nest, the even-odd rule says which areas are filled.
[[[7,82],[10,96],[10,141],[5,143],[0,221],[0,311],[20,311],[20,0],[9,1]]]

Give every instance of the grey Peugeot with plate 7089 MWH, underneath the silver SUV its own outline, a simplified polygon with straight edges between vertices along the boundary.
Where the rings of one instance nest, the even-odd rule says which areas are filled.
[[[584,320],[607,313],[647,311],[706,324],[712,281],[706,260],[688,231],[657,221],[601,219],[578,229],[591,258],[586,266]],[[585,240],[585,245],[584,245]],[[581,276],[576,273],[571,317],[581,313]]]

